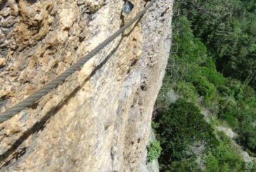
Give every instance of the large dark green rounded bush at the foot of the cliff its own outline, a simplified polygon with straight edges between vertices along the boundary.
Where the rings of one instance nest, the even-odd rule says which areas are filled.
[[[157,132],[163,150],[160,162],[166,165],[172,160],[181,160],[188,145],[199,141],[217,144],[213,129],[205,122],[198,107],[183,99],[171,104],[167,112],[162,112]]]

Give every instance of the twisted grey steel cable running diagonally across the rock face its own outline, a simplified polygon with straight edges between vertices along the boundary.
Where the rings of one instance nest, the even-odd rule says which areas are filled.
[[[94,50],[89,52],[87,55],[84,56],[81,60],[79,60],[75,65],[72,65],[68,70],[65,70],[62,74],[60,74],[56,79],[51,81],[49,84],[46,84],[43,88],[41,88],[39,91],[36,91],[34,94],[30,95],[28,98],[25,98],[22,102],[19,102],[17,105],[11,107],[10,109],[6,110],[5,112],[0,114],[0,124],[7,119],[10,119],[15,114],[18,114],[18,112],[25,110],[25,108],[29,107],[30,105],[33,105],[34,102],[42,98],[44,95],[49,93],[49,91],[53,90],[53,88],[56,88],[58,85],[62,84],[65,79],[70,77],[71,74],[79,70],[86,62],[88,62],[94,55],[96,55],[98,52],[100,52],[105,46],[110,44],[111,41],[116,39],[120,34],[122,34],[128,27],[130,27],[136,20],[141,18],[144,13],[153,5],[153,2],[155,0],[151,0],[151,2],[143,9],[143,11],[139,12],[132,20],[127,22],[123,27],[121,27],[117,32],[115,32],[113,35],[108,37],[108,39],[105,39],[101,44],[96,46]]]

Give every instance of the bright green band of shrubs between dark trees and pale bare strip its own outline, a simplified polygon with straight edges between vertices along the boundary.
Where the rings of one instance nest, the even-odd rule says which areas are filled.
[[[189,73],[177,80],[174,89],[188,101],[196,102],[196,96],[202,96],[205,106],[215,112],[220,120],[229,124],[234,131],[241,133],[238,136],[238,143],[246,147],[251,155],[255,154],[256,128],[253,125],[256,121],[256,94],[254,89],[242,84],[241,81],[226,79],[217,72],[212,58],[205,51],[205,46],[193,36],[188,19],[179,18],[178,22],[182,23],[181,32],[186,34],[174,37],[174,41],[179,43],[181,49],[171,58],[177,60],[177,65],[190,67],[192,64],[193,67],[190,68]],[[185,41],[186,37],[189,37],[189,43]],[[190,44],[191,48],[183,49],[186,44]]]

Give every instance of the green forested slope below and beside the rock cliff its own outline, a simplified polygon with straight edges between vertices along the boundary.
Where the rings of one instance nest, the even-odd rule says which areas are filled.
[[[256,1],[176,1],[172,25],[148,161],[159,156],[160,171],[256,171]]]

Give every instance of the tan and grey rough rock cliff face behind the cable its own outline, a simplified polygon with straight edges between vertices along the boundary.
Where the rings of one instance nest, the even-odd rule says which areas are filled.
[[[134,0],[0,0],[0,112],[37,91],[141,11]],[[146,171],[173,1],[146,15],[64,84],[0,124],[0,171]]]

